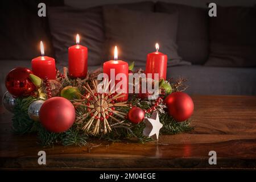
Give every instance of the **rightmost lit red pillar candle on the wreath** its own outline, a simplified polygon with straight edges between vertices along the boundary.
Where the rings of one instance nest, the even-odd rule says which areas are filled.
[[[158,52],[159,45],[155,44],[156,52],[148,53],[147,64],[146,64],[146,75],[152,73],[154,79],[154,73],[159,73],[159,80],[166,80],[166,69],[167,69],[167,55],[162,52]]]

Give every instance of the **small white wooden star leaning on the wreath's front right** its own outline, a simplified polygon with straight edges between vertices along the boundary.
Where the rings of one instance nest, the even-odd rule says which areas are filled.
[[[146,127],[143,130],[143,135],[146,137],[152,137],[155,135],[158,140],[159,131],[163,127],[163,124],[159,121],[158,112],[152,113],[151,118],[145,118],[144,121],[146,123]]]

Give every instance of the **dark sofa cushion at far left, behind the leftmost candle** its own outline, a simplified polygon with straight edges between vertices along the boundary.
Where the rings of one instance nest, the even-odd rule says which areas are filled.
[[[63,0],[0,2],[0,59],[31,60],[40,55],[40,40],[44,42],[46,55],[54,55],[47,17],[38,16],[40,2],[47,7],[64,5]]]

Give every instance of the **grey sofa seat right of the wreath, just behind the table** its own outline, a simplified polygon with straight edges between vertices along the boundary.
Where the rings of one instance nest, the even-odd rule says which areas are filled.
[[[256,95],[256,68],[221,68],[192,65],[171,67],[167,77],[187,78],[185,91],[204,95]]]

